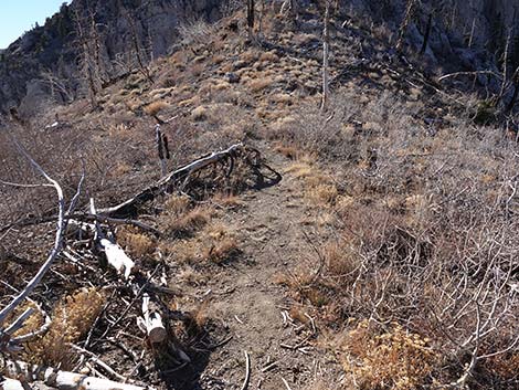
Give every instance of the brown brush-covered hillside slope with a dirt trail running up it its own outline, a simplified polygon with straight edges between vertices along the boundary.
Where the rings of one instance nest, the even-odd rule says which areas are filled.
[[[86,171],[76,218],[89,198],[103,210],[160,178],[157,123],[168,170],[248,147],[124,215],[152,229],[103,224],[136,262],[130,282],[92,231],[71,226],[70,256],[33,294],[51,328],[17,358],[119,380],[98,357],[160,389],[516,389],[512,127],[491,125],[477,94],[438,83],[413,48],[398,53],[394,36],[346,11],[331,14],[322,110],[322,10],[308,6],[296,23],[268,10],[254,36],[245,23],[244,10],[193,23],[150,77],[104,87],[96,107],[78,98],[9,123],[66,199]],[[0,137],[4,307],[52,245],[56,201]],[[139,278],[167,344],[136,326]]]

